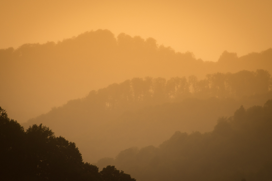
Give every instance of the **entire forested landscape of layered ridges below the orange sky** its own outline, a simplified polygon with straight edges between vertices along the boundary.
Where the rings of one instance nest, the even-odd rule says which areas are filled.
[[[210,62],[99,29],[0,60],[0,180],[272,178],[271,48]]]

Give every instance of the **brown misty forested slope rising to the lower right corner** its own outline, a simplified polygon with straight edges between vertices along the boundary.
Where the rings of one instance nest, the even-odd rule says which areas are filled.
[[[218,119],[214,130],[191,134],[175,132],[159,147],[131,147],[114,164],[139,181],[144,180],[263,180],[272,178],[272,100]]]

